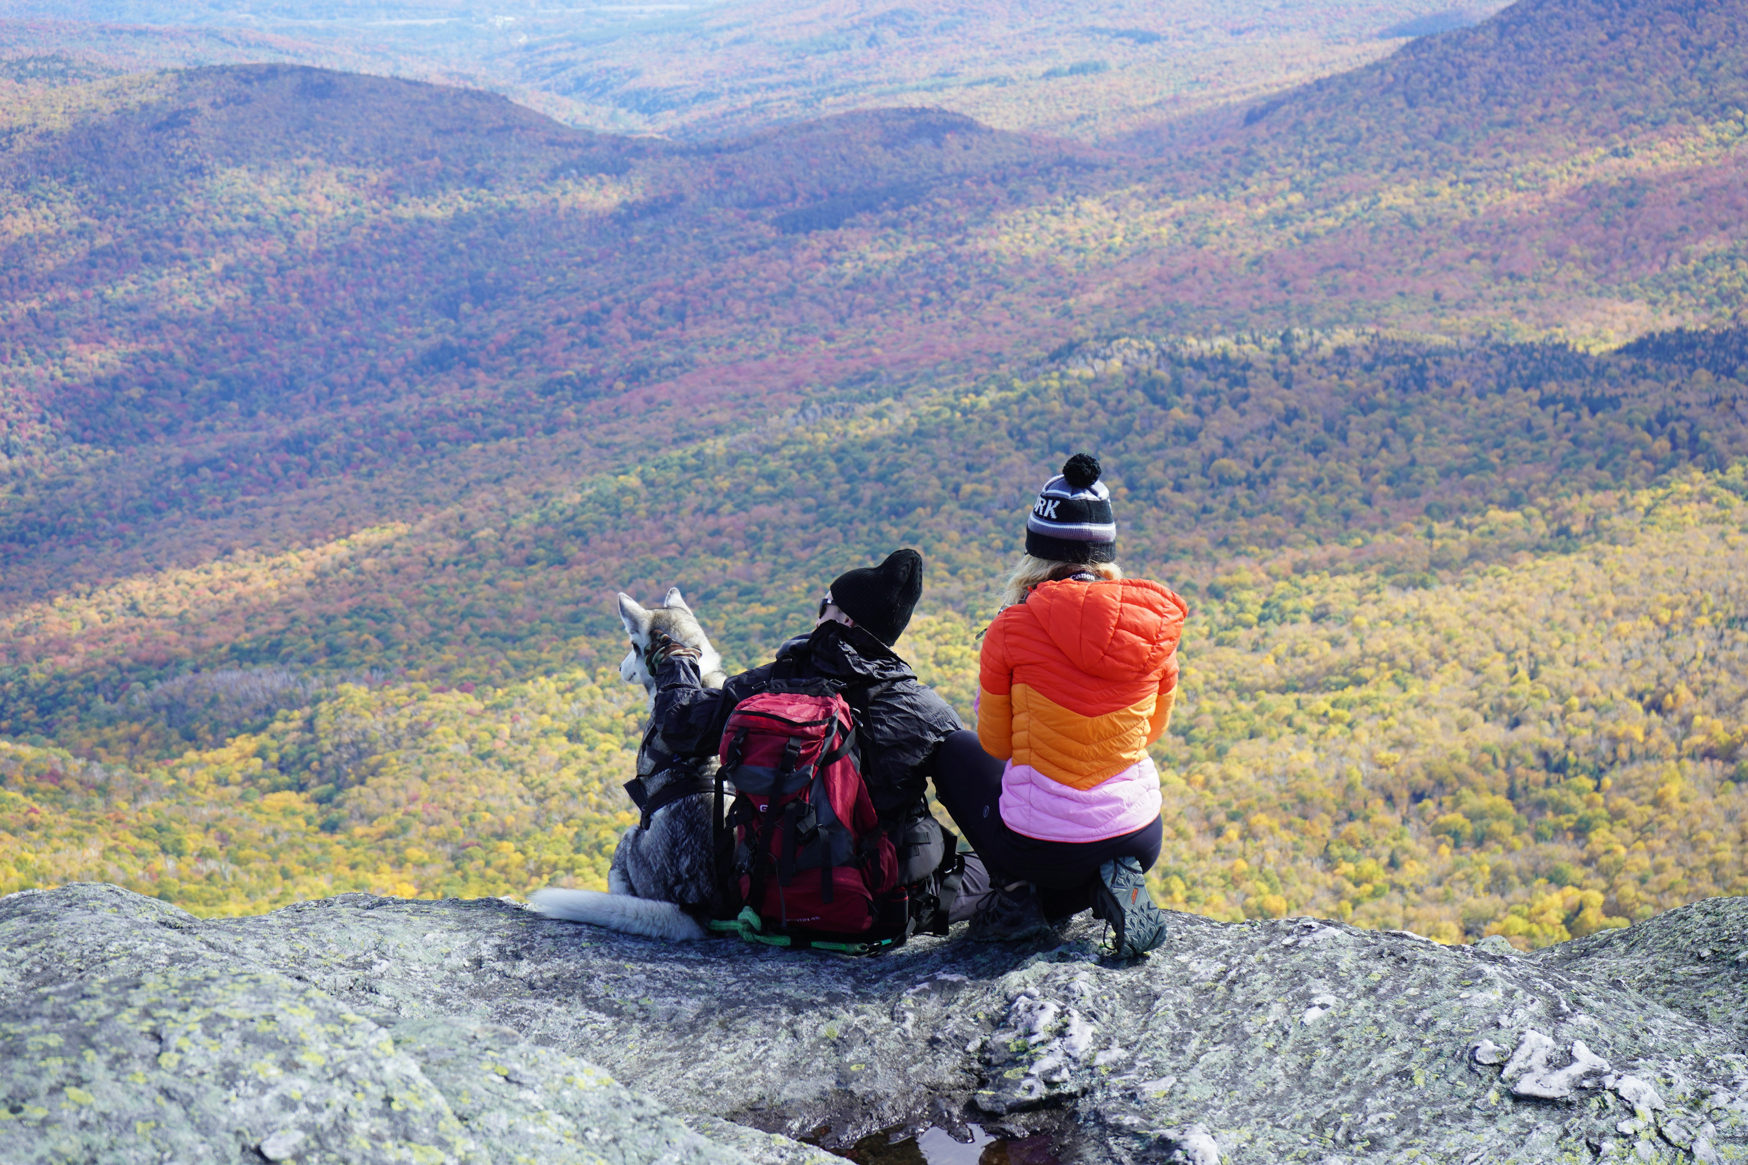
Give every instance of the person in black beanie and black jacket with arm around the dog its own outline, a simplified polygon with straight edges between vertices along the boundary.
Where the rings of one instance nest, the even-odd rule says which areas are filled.
[[[900,882],[930,879],[944,854],[944,831],[928,810],[928,772],[935,749],[963,725],[891,650],[921,594],[923,555],[916,550],[895,550],[879,566],[846,571],[820,601],[811,634],[787,641],[771,664],[731,676],[720,690],[699,683],[694,650],[671,639],[652,645],[650,723],[662,748],[678,756],[708,756],[722,742],[734,706],[771,690],[773,681],[836,681],[857,718],[858,765],[874,812],[895,842],[902,835]],[[907,852],[935,858],[925,861],[928,868],[918,868],[914,858],[912,868],[905,868]],[[953,917],[961,917],[961,910]],[[942,917],[918,922],[919,929],[946,933]]]

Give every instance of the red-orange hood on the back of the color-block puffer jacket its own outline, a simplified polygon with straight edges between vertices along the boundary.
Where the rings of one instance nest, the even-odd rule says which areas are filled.
[[[1089,676],[1155,669],[1178,648],[1189,606],[1145,578],[1047,582],[1026,611],[1068,660]]]

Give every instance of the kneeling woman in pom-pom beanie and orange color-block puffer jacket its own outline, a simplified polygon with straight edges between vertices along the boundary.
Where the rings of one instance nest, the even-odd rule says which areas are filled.
[[[1126,957],[1166,938],[1147,893],[1162,837],[1147,746],[1171,716],[1187,608],[1122,576],[1098,477],[1099,463],[1075,454],[1038,494],[984,636],[977,732],[949,735],[933,772],[977,851],[961,891],[977,901],[972,938],[1031,938],[1091,906]]]

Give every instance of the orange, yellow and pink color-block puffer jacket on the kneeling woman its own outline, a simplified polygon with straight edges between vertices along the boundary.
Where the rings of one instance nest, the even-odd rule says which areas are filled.
[[[1147,746],[1171,718],[1187,613],[1154,582],[1070,578],[996,615],[979,665],[977,739],[1009,762],[1009,828],[1091,842],[1159,816]]]

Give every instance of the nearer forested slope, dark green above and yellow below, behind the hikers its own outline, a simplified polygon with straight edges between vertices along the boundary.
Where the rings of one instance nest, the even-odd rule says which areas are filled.
[[[1543,945],[1741,893],[1732,335],[1070,356],[35,603],[0,658],[0,732],[35,742],[3,762],[10,828],[40,838],[14,877],[103,870],[224,912],[600,886],[642,732],[614,589],[678,582],[752,665],[808,625],[818,578],[918,545],[930,613],[900,651],[968,718],[998,500],[1066,440],[1105,451],[1138,515],[1126,561],[1192,601],[1164,901]],[[989,435],[998,463],[974,452]],[[883,501],[946,466],[953,494]]]

